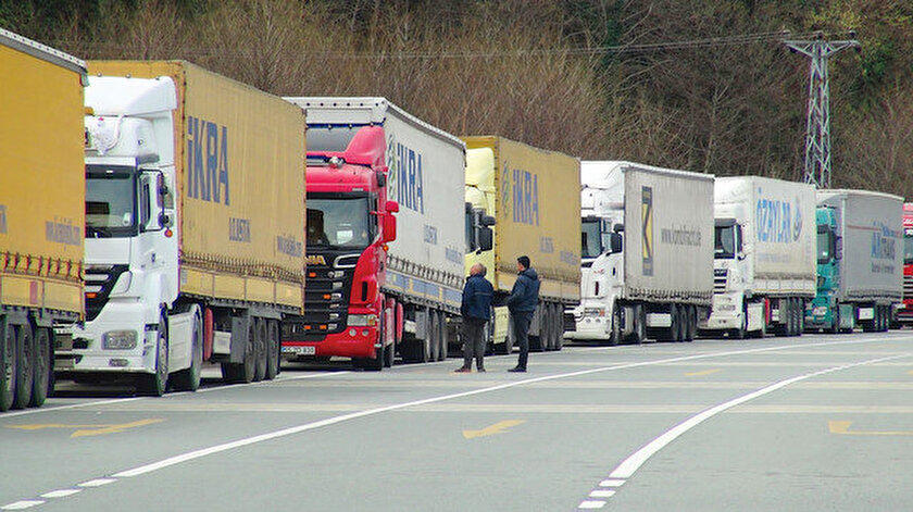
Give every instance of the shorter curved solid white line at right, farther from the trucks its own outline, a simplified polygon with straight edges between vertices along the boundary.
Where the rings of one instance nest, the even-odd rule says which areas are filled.
[[[727,409],[731,409],[736,405],[745,403],[749,400],[753,400],[758,397],[763,397],[764,395],[774,392],[777,389],[781,389],[786,386],[789,386],[790,384],[795,384],[795,383],[798,383],[800,380],[805,380],[805,379],[809,379],[809,378],[812,378],[812,377],[817,377],[817,376],[821,376],[821,375],[824,375],[824,374],[838,372],[838,371],[851,369],[851,367],[854,367],[854,366],[863,366],[865,364],[877,363],[877,362],[880,362],[880,361],[889,361],[889,360],[892,360],[892,359],[906,358],[906,357],[910,357],[910,355],[911,354],[908,353],[908,354],[903,354],[903,355],[892,355],[892,357],[888,357],[888,358],[870,359],[867,361],[843,364],[843,365],[840,365],[840,366],[834,366],[834,367],[830,367],[830,369],[821,370],[821,371],[813,372],[813,373],[808,373],[805,375],[799,375],[797,377],[787,378],[786,380],[780,380],[778,383],[774,383],[774,384],[772,384],[767,387],[761,388],[756,391],[752,391],[748,395],[742,395],[741,397],[738,397],[738,398],[735,398],[735,399],[729,400],[727,402],[724,402],[724,403],[721,403],[718,405],[712,407],[712,408],[710,408],[710,409],[708,409],[703,412],[700,412],[700,413],[689,417],[688,420],[685,420],[684,422],[679,423],[678,425],[672,427],[670,430],[667,430],[666,433],[664,433],[660,437],[658,437],[658,438],[653,439],[652,441],[648,442],[647,445],[645,445],[642,448],[640,448],[639,450],[634,452],[630,457],[628,457],[621,464],[618,464],[618,466],[615,467],[615,470],[612,471],[612,473],[609,474],[609,477],[610,478],[630,478],[630,476],[638,469],[640,469],[640,466],[643,465],[643,463],[647,462],[648,459],[650,459],[653,454],[655,454],[658,451],[663,449],[666,445],[668,445],[670,442],[672,442],[673,440],[675,440],[677,437],[685,434],[686,432],[690,430],[691,428],[700,425],[705,420],[708,420],[710,417],[713,417],[714,415],[720,414],[721,412],[726,411]]]

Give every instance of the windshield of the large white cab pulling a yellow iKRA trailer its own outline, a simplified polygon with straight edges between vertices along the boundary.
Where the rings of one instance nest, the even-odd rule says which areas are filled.
[[[86,237],[137,235],[137,171],[124,165],[86,166]]]

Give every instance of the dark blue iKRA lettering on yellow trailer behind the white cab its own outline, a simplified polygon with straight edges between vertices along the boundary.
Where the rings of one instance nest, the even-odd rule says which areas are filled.
[[[224,198],[228,205],[228,128],[225,126],[187,117],[187,195],[212,202],[223,202]]]

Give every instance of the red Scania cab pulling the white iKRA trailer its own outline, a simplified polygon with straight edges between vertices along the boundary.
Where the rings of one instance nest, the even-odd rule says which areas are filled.
[[[380,126],[308,127],[304,312],[283,324],[285,359],[392,364],[401,314],[382,287],[399,205],[387,201],[385,148]]]

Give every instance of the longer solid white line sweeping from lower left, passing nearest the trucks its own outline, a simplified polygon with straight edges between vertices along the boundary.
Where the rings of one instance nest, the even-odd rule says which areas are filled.
[[[871,341],[875,341],[875,340],[871,340]],[[824,345],[846,345],[846,344],[850,344],[850,342],[867,342],[867,341],[847,340],[847,341],[830,341],[830,342],[822,342],[822,344],[784,345],[784,346],[763,347],[763,348],[746,349],[746,350],[729,350],[729,351],[715,352],[715,353],[701,353],[701,354],[696,354],[696,355],[683,355],[683,357],[678,357],[678,358],[666,358],[666,359],[659,359],[659,360],[652,360],[652,361],[641,361],[641,362],[635,362],[635,363],[614,364],[614,365],[611,365],[611,366],[600,366],[600,367],[596,367],[596,369],[580,370],[580,371],[577,371],[577,372],[570,372],[570,373],[562,373],[562,374],[554,374],[554,375],[546,375],[546,376],[541,376],[541,377],[526,378],[526,379],[523,379],[523,380],[513,380],[513,382],[508,382],[508,383],[504,383],[504,384],[499,384],[497,386],[490,386],[490,387],[479,388],[479,389],[472,389],[472,390],[468,390],[468,391],[462,391],[462,392],[456,392],[456,394],[452,394],[452,395],[443,395],[443,396],[439,396],[439,397],[425,398],[425,399],[422,399],[422,400],[413,400],[413,401],[410,401],[410,402],[396,403],[396,404],[375,408],[375,409],[367,409],[367,410],[364,410],[364,411],[343,414],[343,415],[340,415],[340,416],[328,417],[326,420],[321,420],[321,421],[317,421],[317,422],[305,423],[303,425],[297,425],[297,426],[292,426],[292,427],[288,427],[288,428],[283,428],[280,430],[274,430],[274,432],[266,433],[266,434],[261,434],[261,435],[258,435],[258,436],[252,436],[252,437],[247,437],[247,438],[243,438],[243,439],[238,439],[236,441],[224,442],[222,445],[215,445],[215,446],[211,446],[209,448],[202,448],[202,449],[199,449],[199,450],[193,450],[193,451],[180,453],[180,454],[177,454],[177,455],[174,455],[174,457],[170,457],[167,459],[163,459],[163,460],[152,462],[152,463],[149,463],[149,464],[145,464],[145,465],[134,467],[134,469],[130,469],[130,470],[122,471],[120,473],[115,473],[113,476],[118,477],[118,478],[129,477],[129,476],[139,476],[139,475],[143,475],[146,473],[151,473],[153,471],[162,470],[164,467],[168,467],[168,466],[172,466],[172,465],[175,465],[175,464],[180,464],[180,463],[184,463],[184,462],[187,462],[187,461],[191,461],[191,460],[199,459],[199,458],[202,458],[202,457],[211,455],[211,454],[214,454],[214,453],[220,453],[220,452],[227,451],[227,450],[234,450],[234,449],[241,448],[241,447],[245,447],[245,446],[253,445],[253,444],[257,444],[257,442],[263,442],[263,441],[267,441],[267,440],[271,440],[271,439],[276,439],[276,438],[279,438],[279,437],[286,437],[286,436],[290,436],[290,435],[293,435],[293,434],[300,434],[302,432],[313,430],[315,428],[322,428],[322,427],[325,427],[325,426],[335,425],[337,423],[342,423],[342,422],[347,422],[347,421],[350,421],[350,420],[357,420],[359,417],[372,416],[372,415],[375,415],[375,414],[380,414],[380,413],[389,412],[389,411],[397,411],[397,410],[405,409],[405,408],[413,407],[413,405],[424,405],[424,404],[427,404],[427,403],[441,402],[441,401],[445,401],[445,400],[453,400],[455,398],[471,397],[471,396],[475,396],[475,395],[481,395],[481,394],[486,394],[486,392],[498,391],[498,390],[501,390],[501,389],[508,389],[508,388],[512,388],[512,387],[516,387],[516,386],[523,386],[523,385],[526,385],[526,384],[541,383],[541,382],[554,380],[554,379],[559,379],[559,378],[576,377],[576,376],[580,376],[580,375],[589,375],[589,374],[593,374],[593,373],[608,372],[608,371],[612,371],[612,370],[634,369],[634,367],[658,365],[658,364],[678,362],[678,361],[690,361],[690,360],[696,360],[696,359],[708,359],[708,358],[720,358],[720,357],[726,357],[726,355],[738,355],[738,354],[747,354],[747,353],[770,352],[770,351],[774,351],[774,350],[784,350],[784,349],[796,348],[796,347],[808,347],[808,346],[813,346],[814,347],[814,346],[824,346]]]

